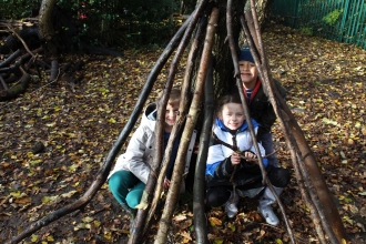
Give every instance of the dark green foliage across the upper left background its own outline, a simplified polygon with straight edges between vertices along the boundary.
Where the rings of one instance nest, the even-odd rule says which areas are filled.
[[[0,19],[38,14],[40,0],[0,0]],[[83,41],[104,47],[165,43],[175,32],[177,0],[59,0],[58,6],[80,29]]]

